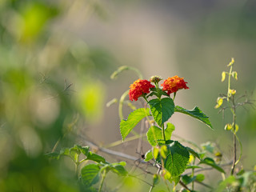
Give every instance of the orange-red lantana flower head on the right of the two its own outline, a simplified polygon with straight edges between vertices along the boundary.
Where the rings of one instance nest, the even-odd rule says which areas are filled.
[[[175,75],[172,78],[167,78],[162,83],[162,90],[167,90],[167,94],[176,93],[178,90],[182,89],[189,89],[189,87],[186,86],[186,83],[183,78],[179,78],[177,75]]]

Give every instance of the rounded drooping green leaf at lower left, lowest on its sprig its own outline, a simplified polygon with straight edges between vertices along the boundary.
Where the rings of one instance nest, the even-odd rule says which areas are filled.
[[[85,186],[92,186],[99,180],[100,168],[98,165],[90,164],[82,167],[81,178]]]

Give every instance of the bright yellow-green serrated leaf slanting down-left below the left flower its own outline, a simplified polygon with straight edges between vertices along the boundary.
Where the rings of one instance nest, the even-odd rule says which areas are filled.
[[[145,118],[146,116],[150,116],[150,109],[140,108],[130,113],[127,120],[122,120],[120,122],[122,141],[124,141],[130,131],[134,129],[134,126],[136,126],[138,122],[140,122],[142,118]]]

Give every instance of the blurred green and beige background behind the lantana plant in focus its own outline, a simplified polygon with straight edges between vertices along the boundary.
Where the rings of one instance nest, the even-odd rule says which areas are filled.
[[[119,66],[134,66],[143,77],[184,77],[190,90],[176,104],[200,107],[214,131],[194,119],[174,114],[174,134],[200,145],[216,142],[232,155],[230,122],[214,105],[226,93],[221,73],[234,58],[238,95],[256,88],[256,3],[253,0],[0,1],[0,190],[78,191],[74,167],[51,164],[43,154],[85,139],[107,145],[121,139],[118,105],[138,78]],[[252,99],[256,98],[255,94]],[[134,104],[142,106],[141,102]],[[256,112],[238,110],[242,165],[256,159]],[[124,115],[129,114],[125,106]],[[71,126],[70,126],[71,125]],[[139,130],[139,127],[137,127]],[[113,150],[136,154],[136,140]],[[149,149],[146,144],[144,152]],[[65,167],[65,169],[63,168]]]

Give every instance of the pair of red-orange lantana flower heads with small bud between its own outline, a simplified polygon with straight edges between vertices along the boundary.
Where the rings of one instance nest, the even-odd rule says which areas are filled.
[[[158,82],[160,82],[162,78],[158,76],[153,76],[150,78],[150,81],[138,79],[133,84],[130,85],[130,91],[129,91],[129,97],[130,101],[137,101],[139,97],[145,97],[146,94],[150,93],[150,89],[155,88],[155,86],[158,87]],[[151,84],[151,82],[154,82],[155,86]],[[176,93],[178,90],[182,89],[189,89],[188,86],[186,86],[186,83],[183,78],[179,78],[177,75],[175,75],[172,78],[167,78],[164,80],[164,82],[161,84],[162,90],[166,91],[167,94]]]

